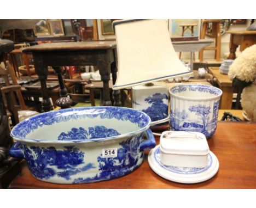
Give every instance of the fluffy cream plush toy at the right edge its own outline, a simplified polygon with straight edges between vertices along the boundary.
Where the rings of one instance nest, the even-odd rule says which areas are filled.
[[[229,68],[233,87],[243,88],[241,105],[247,117],[256,121],[256,44],[246,48]]]

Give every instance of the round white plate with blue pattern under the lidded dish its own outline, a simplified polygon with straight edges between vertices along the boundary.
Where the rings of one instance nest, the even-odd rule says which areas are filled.
[[[180,168],[164,166],[160,162],[160,145],[149,152],[148,163],[154,172],[170,181],[179,183],[199,183],[211,179],[219,169],[218,158],[210,151],[206,168]]]

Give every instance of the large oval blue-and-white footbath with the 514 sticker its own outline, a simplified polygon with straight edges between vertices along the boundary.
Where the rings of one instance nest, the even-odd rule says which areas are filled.
[[[53,183],[89,183],[119,178],[143,162],[155,146],[146,113],[123,107],[69,108],[28,118],[14,127],[13,157]],[[146,134],[146,140],[143,135]]]

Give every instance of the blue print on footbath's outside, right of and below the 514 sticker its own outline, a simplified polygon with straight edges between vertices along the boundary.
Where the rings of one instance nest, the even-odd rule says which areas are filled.
[[[121,142],[122,148],[118,149],[118,156],[104,158],[102,154],[98,156],[98,170],[100,173],[94,177],[78,178],[73,183],[89,183],[102,180],[110,180],[124,176],[136,169],[142,162],[144,153],[139,152],[139,144],[142,134],[137,137],[131,137]]]

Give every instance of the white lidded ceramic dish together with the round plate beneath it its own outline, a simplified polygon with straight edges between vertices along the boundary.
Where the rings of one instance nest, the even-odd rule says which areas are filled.
[[[162,178],[179,183],[206,181],[219,169],[217,157],[199,132],[163,132],[160,145],[149,152],[148,163]]]

